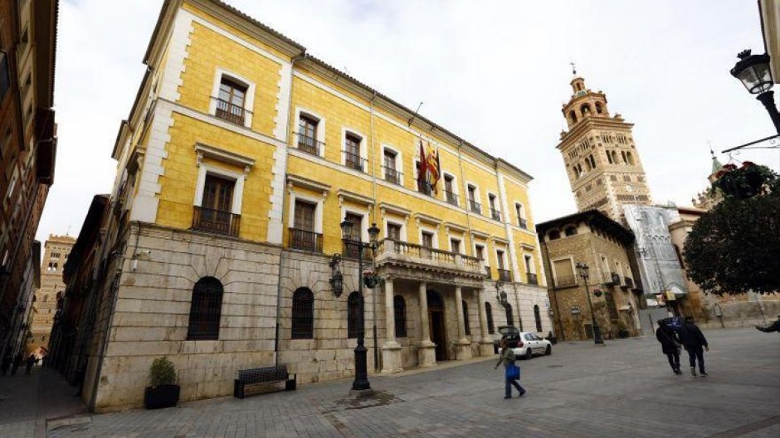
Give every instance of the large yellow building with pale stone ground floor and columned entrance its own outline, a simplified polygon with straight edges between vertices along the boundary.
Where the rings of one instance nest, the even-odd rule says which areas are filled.
[[[353,376],[361,293],[370,374],[492,355],[501,325],[552,330],[530,175],[222,2],[166,1],[144,63],[112,154],[121,256],[91,408],[140,405],[161,355],[182,400],[231,394],[238,369]],[[434,190],[420,143],[438,152]],[[380,230],[375,288],[345,218],[362,242]]]

